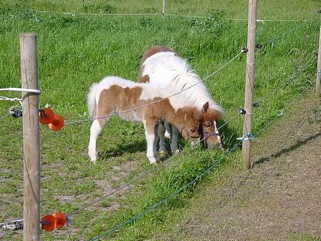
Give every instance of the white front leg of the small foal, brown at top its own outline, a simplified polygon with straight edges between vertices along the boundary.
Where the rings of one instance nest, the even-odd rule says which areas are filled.
[[[147,153],[146,156],[148,160],[150,160],[151,164],[156,164],[156,156],[157,156],[157,132],[158,125],[151,121],[143,121],[145,127],[145,137],[147,142]]]

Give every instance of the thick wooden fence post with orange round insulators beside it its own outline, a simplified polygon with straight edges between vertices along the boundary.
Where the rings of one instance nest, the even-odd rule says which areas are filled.
[[[36,34],[20,34],[21,87],[38,89]],[[23,240],[39,240],[40,151],[38,93],[23,99]]]

